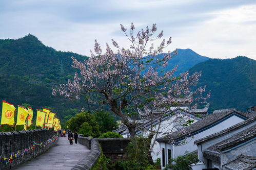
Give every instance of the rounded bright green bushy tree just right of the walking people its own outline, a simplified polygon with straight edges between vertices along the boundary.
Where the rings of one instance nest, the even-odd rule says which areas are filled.
[[[67,120],[67,128],[71,131],[82,133],[84,136],[97,137],[101,135],[99,124],[94,115],[87,111],[77,113],[74,117]]]

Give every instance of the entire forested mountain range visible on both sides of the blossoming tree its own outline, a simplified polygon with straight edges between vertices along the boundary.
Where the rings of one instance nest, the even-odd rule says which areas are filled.
[[[65,118],[71,108],[91,109],[84,100],[70,102],[51,95],[52,88],[72,79],[77,71],[72,68],[71,56],[78,61],[88,59],[56,51],[31,34],[16,40],[0,39],[0,100],[15,105],[31,104],[34,109],[48,106],[61,118]],[[175,65],[178,65],[176,75],[188,69],[191,73],[202,70],[199,84],[211,90],[211,110],[228,107],[245,110],[255,105],[255,60],[246,57],[210,59],[190,49],[178,49],[178,55],[168,62],[166,70]]]

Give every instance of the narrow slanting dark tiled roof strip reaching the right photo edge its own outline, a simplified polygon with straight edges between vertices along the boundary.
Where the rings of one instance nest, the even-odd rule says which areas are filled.
[[[236,124],[234,126],[231,126],[231,127],[227,128],[227,129],[224,129],[224,130],[222,130],[220,132],[217,132],[217,133],[214,133],[212,135],[209,135],[209,136],[206,136],[204,138],[201,138],[199,140],[196,140],[196,141],[194,141],[194,144],[200,144],[200,143],[205,142],[205,141],[207,141],[209,139],[213,139],[215,137],[222,136],[222,135],[224,135],[224,134],[226,134],[226,133],[228,133],[228,132],[230,132],[230,131],[232,131],[234,129],[246,126],[247,124],[250,124],[251,122],[254,122],[255,120],[256,120],[256,116],[251,117],[251,118],[249,118],[247,120],[244,120],[241,123],[238,123],[238,124]]]

